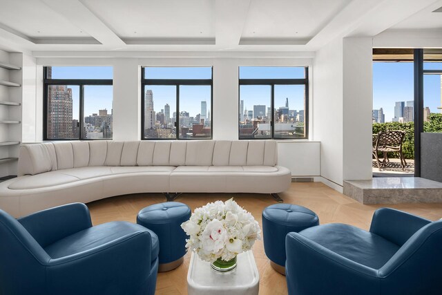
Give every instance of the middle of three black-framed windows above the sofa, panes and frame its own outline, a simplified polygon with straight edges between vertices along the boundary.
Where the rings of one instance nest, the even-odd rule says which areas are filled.
[[[142,68],[142,139],[212,138],[212,68]]]

